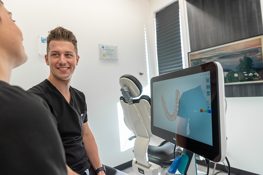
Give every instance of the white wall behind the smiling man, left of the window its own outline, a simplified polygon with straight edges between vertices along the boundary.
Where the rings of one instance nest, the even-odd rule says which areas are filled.
[[[114,167],[132,160],[132,149],[120,152],[119,78],[131,74],[147,85],[144,25],[151,36],[149,1],[8,0],[4,4],[23,32],[28,55],[27,63],[13,70],[10,83],[29,89],[47,78],[49,67],[44,56],[38,55],[38,36],[47,36],[57,26],[71,30],[78,40],[80,56],[71,85],[86,95],[88,121],[102,163]],[[99,43],[118,46],[119,60],[100,61]]]

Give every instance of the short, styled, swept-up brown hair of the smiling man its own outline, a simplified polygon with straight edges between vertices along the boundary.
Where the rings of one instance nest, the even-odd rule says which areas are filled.
[[[72,33],[72,31],[64,29],[63,27],[57,27],[53,30],[50,30],[50,32],[48,33],[49,34],[47,36],[47,56],[48,56],[48,51],[49,51],[49,43],[50,41],[53,41],[53,40],[72,42],[75,48],[76,56],[78,55],[77,39],[75,35]]]

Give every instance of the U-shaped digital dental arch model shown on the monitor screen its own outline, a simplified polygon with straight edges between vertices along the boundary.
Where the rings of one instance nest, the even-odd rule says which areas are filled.
[[[176,89],[176,91],[175,91],[175,106],[174,106],[174,114],[173,115],[169,114],[163,95],[161,95],[161,101],[162,101],[163,110],[164,110],[166,118],[171,122],[175,121],[177,119],[177,116],[178,116],[179,103],[180,103],[180,92],[179,92],[179,90]]]

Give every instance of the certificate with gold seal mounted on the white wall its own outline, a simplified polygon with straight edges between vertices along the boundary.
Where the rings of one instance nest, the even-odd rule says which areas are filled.
[[[117,46],[99,44],[100,59],[118,60]]]

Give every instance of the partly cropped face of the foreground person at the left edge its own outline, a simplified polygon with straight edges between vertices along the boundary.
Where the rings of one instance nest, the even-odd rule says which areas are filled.
[[[15,68],[27,61],[27,55],[22,44],[23,35],[12,20],[12,13],[8,12],[3,4],[0,6],[0,18],[1,54],[11,58]]]

